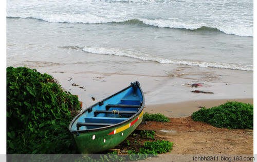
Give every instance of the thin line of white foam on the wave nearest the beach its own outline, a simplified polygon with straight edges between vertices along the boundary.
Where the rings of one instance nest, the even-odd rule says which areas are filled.
[[[233,64],[233,63],[217,63],[217,62],[202,62],[202,61],[186,61],[186,60],[170,60],[163,59],[159,57],[154,57],[145,53],[127,50],[127,49],[119,49],[119,48],[102,48],[102,47],[89,47],[85,46],[83,51],[95,54],[102,55],[115,55],[115,56],[124,56],[135,58],[144,61],[156,61],[163,64],[182,64],[189,66],[199,66],[199,67],[215,67],[215,68],[225,68],[225,69],[234,69],[234,70],[247,70],[252,71],[252,65],[244,65],[244,64]]]

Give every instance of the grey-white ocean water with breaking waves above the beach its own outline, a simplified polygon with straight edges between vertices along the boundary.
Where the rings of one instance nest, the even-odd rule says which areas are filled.
[[[180,67],[253,71],[253,1],[8,0],[7,65],[150,76]]]

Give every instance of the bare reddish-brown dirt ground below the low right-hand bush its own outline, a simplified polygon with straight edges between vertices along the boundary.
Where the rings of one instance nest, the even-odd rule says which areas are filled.
[[[253,154],[253,130],[215,128],[191,117],[169,119],[142,122],[137,130],[154,130],[173,142],[171,154]]]

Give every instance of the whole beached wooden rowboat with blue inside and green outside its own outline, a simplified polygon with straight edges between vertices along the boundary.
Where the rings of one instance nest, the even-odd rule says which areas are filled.
[[[89,106],[69,124],[80,153],[93,154],[119,145],[141,123],[143,108],[138,81]]]

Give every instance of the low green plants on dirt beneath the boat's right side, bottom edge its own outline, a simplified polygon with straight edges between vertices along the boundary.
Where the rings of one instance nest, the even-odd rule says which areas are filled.
[[[115,147],[118,151],[104,152],[101,157],[89,158],[89,161],[128,161],[139,160],[147,157],[153,157],[160,153],[171,152],[173,142],[167,141],[162,137],[156,136],[155,131],[139,131],[135,130],[120,145]]]

